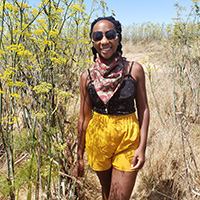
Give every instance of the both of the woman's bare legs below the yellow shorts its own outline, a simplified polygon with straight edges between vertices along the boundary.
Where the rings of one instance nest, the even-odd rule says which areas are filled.
[[[137,171],[124,172],[111,168],[96,173],[102,186],[103,200],[129,200]]]

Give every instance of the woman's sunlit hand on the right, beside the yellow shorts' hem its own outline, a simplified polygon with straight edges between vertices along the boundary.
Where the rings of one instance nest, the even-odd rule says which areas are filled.
[[[143,167],[144,162],[145,162],[145,151],[142,148],[138,148],[135,150],[130,169],[139,170]]]

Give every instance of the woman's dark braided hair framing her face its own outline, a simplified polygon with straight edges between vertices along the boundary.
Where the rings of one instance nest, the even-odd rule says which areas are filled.
[[[116,32],[118,33],[118,38],[119,38],[119,45],[117,46],[117,52],[120,52],[121,55],[122,55],[122,53],[123,53],[123,52],[122,52],[122,44],[121,44],[121,40],[122,40],[122,34],[121,34],[121,32],[122,32],[122,26],[121,26],[121,23],[120,23],[119,21],[117,21],[114,17],[112,17],[112,16],[109,16],[109,17],[99,17],[99,18],[95,19],[95,20],[92,22],[92,24],[91,24],[91,28],[90,28],[90,38],[91,38],[91,36],[92,36],[92,31],[93,31],[94,25],[95,25],[97,22],[101,21],[101,20],[108,20],[108,21],[110,21],[111,23],[114,24],[115,30],[116,30]],[[94,55],[94,61],[95,61],[96,58],[97,58],[97,51],[96,51],[96,49],[94,48],[94,46],[92,47],[92,53],[93,53],[93,55]]]

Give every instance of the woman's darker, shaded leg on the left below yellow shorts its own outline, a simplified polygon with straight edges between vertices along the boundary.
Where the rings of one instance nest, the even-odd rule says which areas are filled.
[[[108,196],[110,193],[112,168],[106,171],[96,171],[96,173],[101,183],[103,200],[108,200]]]

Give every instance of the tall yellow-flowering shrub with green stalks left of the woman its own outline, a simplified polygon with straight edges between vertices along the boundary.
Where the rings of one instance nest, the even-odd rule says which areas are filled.
[[[32,186],[39,199],[39,179],[47,181],[46,194],[50,198],[50,180],[60,170],[60,165],[52,161],[63,159],[63,143],[75,137],[68,138],[67,134],[71,125],[75,126],[80,73],[91,64],[92,13],[106,6],[94,2],[91,13],[87,13],[84,0],[41,0],[37,7],[24,0],[0,0],[1,139],[7,162],[14,163],[15,156],[23,152],[30,156],[27,165],[16,173],[15,166],[8,165],[9,175],[3,184],[7,187],[0,184],[0,198],[1,194],[10,194],[12,199],[27,184],[27,199],[31,199]],[[67,120],[71,120],[69,124]],[[25,142],[28,146],[19,138],[29,141]],[[54,148],[62,152],[58,154]],[[44,176],[43,169],[49,167]],[[37,175],[34,169],[38,169]]]

